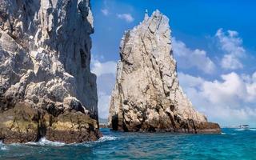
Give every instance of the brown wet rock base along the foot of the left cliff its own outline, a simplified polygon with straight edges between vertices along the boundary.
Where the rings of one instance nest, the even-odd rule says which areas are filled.
[[[5,143],[50,141],[74,143],[95,141],[102,136],[98,122],[76,110],[54,116],[30,102],[18,102],[0,114],[0,138]]]

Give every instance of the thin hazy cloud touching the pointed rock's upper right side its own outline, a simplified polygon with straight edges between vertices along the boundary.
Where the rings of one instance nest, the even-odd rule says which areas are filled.
[[[211,74],[215,70],[214,62],[206,55],[205,50],[191,50],[182,41],[172,39],[174,47],[174,57],[177,59],[178,66],[181,68],[196,67],[206,74]]]

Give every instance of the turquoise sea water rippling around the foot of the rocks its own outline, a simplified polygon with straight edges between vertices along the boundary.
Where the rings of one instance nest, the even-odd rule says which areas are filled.
[[[222,134],[122,133],[102,129],[97,142],[65,145],[42,139],[0,144],[0,159],[256,159],[256,130]]]

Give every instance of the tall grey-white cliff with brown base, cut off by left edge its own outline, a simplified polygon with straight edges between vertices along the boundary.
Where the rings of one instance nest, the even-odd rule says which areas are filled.
[[[89,0],[0,2],[0,140],[101,137],[93,32]]]

